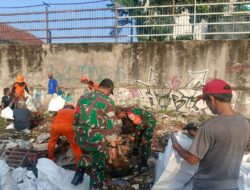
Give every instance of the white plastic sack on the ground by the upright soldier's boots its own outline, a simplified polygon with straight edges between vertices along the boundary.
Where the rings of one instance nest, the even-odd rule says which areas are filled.
[[[37,163],[37,190],[88,190],[89,176],[84,176],[83,183],[75,186],[71,184],[74,171],[65,170],[53,161],[41,158]]]

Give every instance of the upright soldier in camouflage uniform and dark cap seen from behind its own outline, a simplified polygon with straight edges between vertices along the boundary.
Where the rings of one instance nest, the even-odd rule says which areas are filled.
[[[105,180],[105,164],[108,157],[108,142],[115,146],[113,128],[114,102],[108,96],[113,94],[114,84],[104,79],[99,89],[83,95],[77,104],[75,115],[76,142],[83,150],[78,170],[72,184],[78,185],[83,174],[90,171],[90,189],[102,189]],[[115,149],[113,149],[113,158]]]

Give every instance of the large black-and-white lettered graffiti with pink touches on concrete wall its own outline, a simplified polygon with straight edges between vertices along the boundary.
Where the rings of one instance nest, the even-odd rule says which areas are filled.
[[[136,88],[119,88],[116,102],[120,105],[140,105],[155,110],[176,110],[180,112],[205,112],[203,101],[197,101],[202,85],[206,82],[208,70],[188,71],[189,80],[182,82],[178,76],[167,78],[150,68],[147,82],[137,80]],[[159,77],[163,85],[157,85]]]

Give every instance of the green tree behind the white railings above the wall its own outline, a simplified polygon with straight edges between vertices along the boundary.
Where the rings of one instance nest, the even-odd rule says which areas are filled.
[[[183,10],[187,9],[190,14],[194,13],[194,0],[111,0],[119,4],[119,7],[142,7],[140,9],[124,9],[127,15],[130,16],[146,16],[146,15],[169,15],[168,17],[148,17],[148,18],[134,18],[137,35],[149,35],[137,37],[138,41],[165,41],[171,38],[165,34],[173,33],[173,26],[152,26],[152,25],[167,25],[175,24],[174,16],[181,14]],[[206,3],[220,3],[229,2],[229,0],[196,0],[196,18],[190,16],[190,23],[199,23],[202,19],[208,23],[219,22],[224,18],[224,14],[211,14],[211,15],[199,15],[200,13],[223,13],[226,11],[228,5],[204,5]],[[176,6],[176,5],[193,5],[193,6]],[[156,7],[156,8],[144,8],[146,6],[161,6],[172,5],[172,7]],[[172,15],[172,16],[171,16]],[[147,25],[151,25],[148,26]],[[145,27],[140,27],[145,26]],[[213,31],[213,26],[209,25],[208,31]],[[161,35],[163,36],[157,36]],[[150,36],[151,35],[151,36]],[[153,36],[156,35],[156,36]],[[165,36],[164,36],[165,35]],[[192,39],[192,36],[178,36],[178,39]],[[178,40],[177,39],[177,40]]]

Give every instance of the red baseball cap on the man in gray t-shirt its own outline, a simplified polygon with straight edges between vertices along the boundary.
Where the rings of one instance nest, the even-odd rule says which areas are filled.
[[[198,100],[204,99],[209,94],[232,94],[231,86],[221,79],[212,79],[203,86],[203,95]]]

